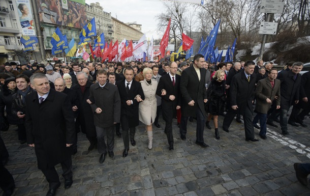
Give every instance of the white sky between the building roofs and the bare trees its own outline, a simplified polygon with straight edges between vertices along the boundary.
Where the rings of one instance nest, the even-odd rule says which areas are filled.
[[[86,0],[86,4],[99,2],[105,12],[122,22],[142,24],[142,33],[147,39],[161,39],[163,35],[156,32],[157,21],[155,16],[164,9],[163,3],[153,0]]]

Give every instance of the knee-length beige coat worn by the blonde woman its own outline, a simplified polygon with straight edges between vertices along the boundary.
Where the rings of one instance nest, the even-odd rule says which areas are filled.
[[[157,100],[156,90],[157,81],[151,80],[150,85],[144,79],[140,81],[145,99],[139,104],[139,120],[145,125],[150,125],[156,118]]]

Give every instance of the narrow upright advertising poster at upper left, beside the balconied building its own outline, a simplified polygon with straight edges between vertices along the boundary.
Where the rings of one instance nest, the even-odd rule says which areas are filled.
[[[33,14],[29,0],[16,0],[22,34],[36,36]]]

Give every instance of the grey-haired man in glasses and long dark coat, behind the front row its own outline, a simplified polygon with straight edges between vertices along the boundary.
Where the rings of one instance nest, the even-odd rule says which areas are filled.
[[[86,133],[86,137],[90,143],[88,151],[91,151],[97,145],[96,127],[94,125],[94,113],[92,113],[87,99],[89,98],[89,88],[92,85],[88,81],[88,76],[84,72],[78,72],[76,74],[78,85],[74,86],[73,90],[77,92],[79,98],[79,115],[76,120],[76,126],[81,126],[83,133]]]

